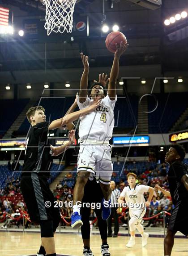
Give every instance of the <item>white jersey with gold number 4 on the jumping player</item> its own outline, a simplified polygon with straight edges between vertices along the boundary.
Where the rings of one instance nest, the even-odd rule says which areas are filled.
[[[114,129],[114,107],[117,100],[111,100],[107,95],[101,100],[100,106],[93,112],[81,117],[79,127],[80,139],[93,139],[100,141],[109,141],[112,137]],[[93,99],[86,98],[84,103],[79,102],[77,104],[80,109],[86,108],[93,103]]]

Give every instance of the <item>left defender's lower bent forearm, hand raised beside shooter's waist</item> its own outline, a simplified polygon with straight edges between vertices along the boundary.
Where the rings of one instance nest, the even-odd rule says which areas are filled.
[[[51,151],[52,151],[52,155],[54,157],[59,156],[61,153],[63,153],[65,150],[67,150],[68,147],[73,145],[74,142],[75,142],[75,130],[71,130],[68,133],[68,142],[66,142],[64,145],[59,146],[59,147],[54,147],[52,145],[50,146]]]

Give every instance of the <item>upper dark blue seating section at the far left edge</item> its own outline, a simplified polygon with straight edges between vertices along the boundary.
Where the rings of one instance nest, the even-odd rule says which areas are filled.
[[[17,116],[25,108],[29,99],[1,99],[0,100],[0,137],[10,128]]]

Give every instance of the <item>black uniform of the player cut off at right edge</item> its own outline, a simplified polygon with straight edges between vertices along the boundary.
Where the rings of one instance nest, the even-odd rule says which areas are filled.
[[[181,178],[188,174],[187,166],[180,161],[171,164],[167,173],[169,189],[172,202],[175,205],[169,220],[168,229],[171,231],[180,231],[188,235],[188,191]]]

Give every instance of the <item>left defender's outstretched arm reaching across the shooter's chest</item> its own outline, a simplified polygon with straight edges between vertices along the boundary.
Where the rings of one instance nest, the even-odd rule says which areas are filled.
[[[62,126],[65,126],[65,125],[77,120],[79,117],[87,115],[88,113],[94,111],[100,105],[100,102],[101,102],[101,97],[96,97],[94,99],[93,103],[89,107],[83,108],[79,111],[70,113],[67,116],[64,116],[62,118],[52,121],[51,124],[49,125],[48,129],[54,130],[54,129],[60,128]]]

